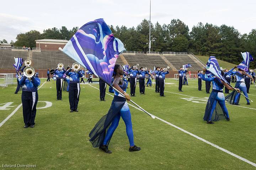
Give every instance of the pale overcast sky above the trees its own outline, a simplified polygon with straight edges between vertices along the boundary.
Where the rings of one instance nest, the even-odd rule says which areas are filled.
[[[234,26],[241,34],[256,29],[256,0],[151,0],[151,22],[179,18],[191,28],[198,22]],[[149,0],[23,0],[1,1],[0,40],[32,29],[66,26],[72,29],[103,18],[108,25],[137,26],[149,20]]]

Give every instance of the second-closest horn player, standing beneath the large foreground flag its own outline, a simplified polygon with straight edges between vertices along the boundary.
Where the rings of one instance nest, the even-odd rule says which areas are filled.
[[[82,74],[78,70],[75,70],[73,67],[67,70],[65,74],[69,76],[70,112],[78,112],[77,108],[80,95],[80,77],[82,77]]]

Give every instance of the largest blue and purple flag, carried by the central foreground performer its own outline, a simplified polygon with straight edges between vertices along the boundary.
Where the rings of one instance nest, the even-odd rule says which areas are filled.
[[[117,57],[123,50],[123,43],[114,37],[102,18],[84,24],[62,49],[108,84],[111,84]]]

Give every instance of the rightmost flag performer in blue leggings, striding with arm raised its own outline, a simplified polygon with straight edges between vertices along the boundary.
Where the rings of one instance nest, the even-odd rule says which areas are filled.
[[[248,98],[247,89],[245,86],[245,76],[250,77],[252,81],[254,81],[254,79],[251,77],[251,75],[246,73],[244,70],[241,70],[240,68],[238,68],[238,71],[233,71],[236,67],[237,66],[235,66],[234,68],[229,70],[230,73],[232,73],[236,76],[235,88],[238,88],[240,91],[242,91],[244,93],[244,95]],[[247,98],[245,98],[245,99],[247,101],[247,105],[249,105],[250,101]],[[234,92],[230,93],[229,95],[227,95],[226,99],[230,101],[230,104],[239,105],[240,93],[236,93],[234,91]]]

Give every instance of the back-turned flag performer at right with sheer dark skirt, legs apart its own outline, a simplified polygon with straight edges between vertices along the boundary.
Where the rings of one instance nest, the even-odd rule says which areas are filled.
[[[204,112],[204,118],[203,120],[207,121],[207,124],[214,124],[213,121],[218,121],[221,119],[226,119],[230,120],[229,114],[228,114],[228,109],[226,108],[225,105],[225,97],[223,94],[223,87],[225,86],[229,90],[234,90],[231,88],[227,83],[223,82],[222,80],[211,77],[211,78],[206,78],[204,76],[206,69],[204,68],[202,79],[204,81],[208,82],[213,82],[213,90],[212,93],[210,94],[210,97],[208,99],[208,102],[206,104],[206,110]],[[224,76],[224,72],[222,71],[222,76]],[[239,91],[239,89],[236,89]],[[240,91],[239,91],[240,92]],[[220,105],[222,110],[219,110],[216,108],[217,103]],[[216,110],[214,112],[214,110]],[[213,116],[214,112],[214,117]],[[223,116],[222,116],[223,115]]]

